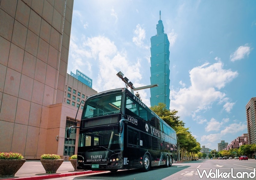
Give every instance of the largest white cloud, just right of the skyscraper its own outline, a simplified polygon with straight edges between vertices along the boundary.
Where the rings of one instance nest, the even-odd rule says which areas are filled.
[[[214,102],[226,98],[226,94],[219,90],[238,75],[236,71],[223,69],[220,61],[194,67],[189,74],[191,86],[172,89],[170,93],[170,109],[178,110],[179,116],[190,116],[208,110]]]

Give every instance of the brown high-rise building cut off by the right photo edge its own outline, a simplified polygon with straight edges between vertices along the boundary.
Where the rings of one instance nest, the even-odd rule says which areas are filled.
[[[251,98],[245,106],[248,141],[249,144],[256,143],[256,97]]]

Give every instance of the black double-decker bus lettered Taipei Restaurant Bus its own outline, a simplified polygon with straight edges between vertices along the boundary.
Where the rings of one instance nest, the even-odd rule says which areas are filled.
[[[153,166],[170,167],[176,159],[176,132],[127,88],[86,98],[77,170],[148,171]]]

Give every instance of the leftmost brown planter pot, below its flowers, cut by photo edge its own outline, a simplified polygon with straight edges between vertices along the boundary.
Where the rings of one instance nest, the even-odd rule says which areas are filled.
[[[25,159],[0,159],[0,177],[14,177],[25,162]]]

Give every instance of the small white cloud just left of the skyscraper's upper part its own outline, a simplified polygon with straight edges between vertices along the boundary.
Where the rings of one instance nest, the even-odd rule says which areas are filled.
[[[148,49],[148,46],[144,45],[144,40],[146,38],[146,31],[143,29],[140,24],[136,25],[136,29],[133,31],[133,42],[136,46]]]

